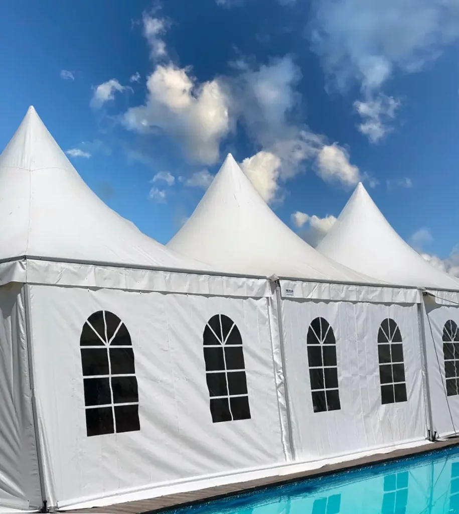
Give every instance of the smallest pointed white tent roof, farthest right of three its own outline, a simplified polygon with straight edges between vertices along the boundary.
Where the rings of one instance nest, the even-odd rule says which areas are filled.
[[[361,183],[317,250],[391,284],[458,289],[453,277],[430,265],[395,232]]]

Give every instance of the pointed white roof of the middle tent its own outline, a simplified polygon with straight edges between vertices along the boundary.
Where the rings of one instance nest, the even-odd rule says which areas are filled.
[[[375,282],[324,258],[284,225],[231,154],[167,246],[222,271]]]

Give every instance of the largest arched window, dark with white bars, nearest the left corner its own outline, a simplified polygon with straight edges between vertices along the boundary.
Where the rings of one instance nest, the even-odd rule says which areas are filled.
[[[140,430],[131,338],[108,310],[91,314],[80,337],[87,435]]]

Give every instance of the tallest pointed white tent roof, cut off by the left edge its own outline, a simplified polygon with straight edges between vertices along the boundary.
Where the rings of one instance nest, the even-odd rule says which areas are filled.
[[[0,155],[0,259],[42,258],[208,269],[177,255],[86,186],[30,106]]]

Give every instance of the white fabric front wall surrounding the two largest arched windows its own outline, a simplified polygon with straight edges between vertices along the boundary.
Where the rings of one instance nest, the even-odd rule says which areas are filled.
[[[30,304],[50,505],[149,498],[155,487],[285,462],[267,299],[31,285]],[[130,334],[140,430],[88,436],[80,335],[100,310]],[[218,314],[241,334],[250,419],[213,423],[209,411],[203,331]]]

